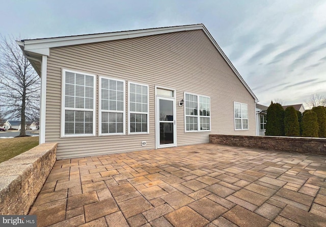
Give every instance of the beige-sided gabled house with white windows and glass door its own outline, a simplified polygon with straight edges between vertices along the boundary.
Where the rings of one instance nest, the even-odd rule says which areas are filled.
[[[17,43],[41,77],[40,143],[58,142],[58,159],[256,135],[258,99],[203,24]]]

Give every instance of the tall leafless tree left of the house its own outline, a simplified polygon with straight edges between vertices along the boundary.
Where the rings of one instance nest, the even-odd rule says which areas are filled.
[[[0,106],[7,119],[20,119],[19,136],[25,136],[25,121],[40,109],[40,77],[23,56],[13,37],[0,40]]]

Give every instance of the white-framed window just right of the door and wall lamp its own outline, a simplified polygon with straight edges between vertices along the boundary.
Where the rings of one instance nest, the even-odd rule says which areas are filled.
[[[184,94],[185,131],[210,131],[210,98]]]

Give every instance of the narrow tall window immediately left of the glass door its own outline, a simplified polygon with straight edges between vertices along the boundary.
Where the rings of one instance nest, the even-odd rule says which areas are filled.
[[[128,133],[149,133],[148,85],[128,83]]]

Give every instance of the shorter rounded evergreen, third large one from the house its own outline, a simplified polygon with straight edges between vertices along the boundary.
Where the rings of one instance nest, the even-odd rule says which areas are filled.
[[[302,136],[318,137],[317,114],[313,111],[305,111],[302,118]]]

